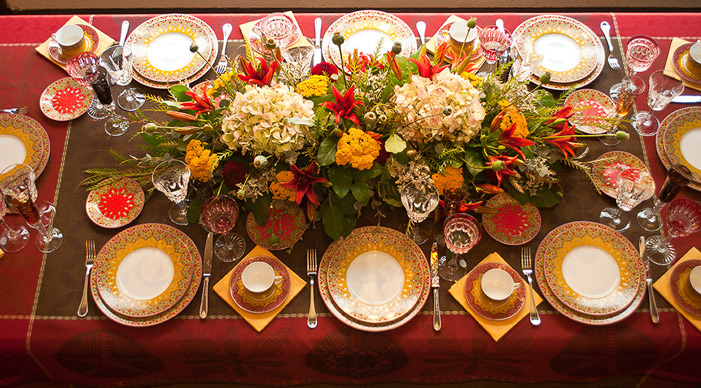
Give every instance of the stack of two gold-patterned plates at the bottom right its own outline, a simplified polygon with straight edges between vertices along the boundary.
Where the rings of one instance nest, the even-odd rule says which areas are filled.
[[[622,234],[594,222],[555,228],[540,243],[535,275],[562,315],[590,325],[629,316],[645,294],[645,267]]]

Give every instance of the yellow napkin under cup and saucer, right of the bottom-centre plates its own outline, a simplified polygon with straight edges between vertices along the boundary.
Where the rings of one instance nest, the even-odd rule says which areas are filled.
[[[482,263],[502,263],[505,265],[509,265],[496,252],[487,256],[479,264],[482,264]],[[452,295],[453,298],[455,298],[455,300],[457,300],[458,303],[460,303],[460,305],[462,307],[464,307],[465,310],[467,310],[467,312],[470,313],[470,315],[472,315],[473,318],[475,318],[477,323],[479,323],[480,326],[482,326],[487,331],[487,333],[489,333],[489,335],[491,335],[492,338],[494,338],[494,341],[499,341],[499,339],[501,337],[503,337],[506,333],[508,333],[512,327],[516,326],[516,324],[521,319],[523,319],[523,317],[525,317],[526,315],[529,314],[530,305],[531,305],[530,304],[531,303],[531,293],[528,292],[528,290],[526,290],[526,300],[525,300],[525,303],[523,304],[523,308],[521,309],[521,311],[518,312],[518,314],[514,315],[513,317],[511,317],[509,319],[505,319],[502,321],[495,321],[495,320],[491,320],[491,319],[482,318],[481,316],[477,315],[477,313],[475,313],[470,308],[470,306],[467,304],[467,300],[465,300],[464,290],[465,290],[465,280],[466,279],[467,279],[467,275],[463,276],[462,279],[458,280],[457,282],[455,282],[455,284],[453,284],[452,287],[450,287],[448,292],[450,292],[450,295]],[[524,282],[524,285],[526,287],[528,287],[528,282]],[[533,291],[533,295],[535,298],[535,304],[537,306],[540,304],[540,302],[543,301],[543,299],[535,291]]]

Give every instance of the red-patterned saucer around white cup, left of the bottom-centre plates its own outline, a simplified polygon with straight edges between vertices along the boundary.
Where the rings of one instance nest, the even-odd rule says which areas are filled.
[[[241,274],[246,266],[257,261],[270,264],[275,270],[275,276],[282,276],[280,285],[276,285],[273,294],[265,300],[257,300],[249,296],[241,281]],[[290,294],[291,284],[290,273],[280,260],[270,256],[249,257],[234,267],[234,272],[229,280],[229,293],[234,303],[242,310],[254,314],[263,314],[269,313],[285,303],[287,296]]]

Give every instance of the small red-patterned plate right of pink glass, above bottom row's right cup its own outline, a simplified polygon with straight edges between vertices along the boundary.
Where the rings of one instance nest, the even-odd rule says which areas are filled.
[[[540,212],[530,203],[521,204],[509,194],[501,193],[490,198],[486,205],[496,212],[482,215],[484,230],[502,244],[525,244],[540,231]]]

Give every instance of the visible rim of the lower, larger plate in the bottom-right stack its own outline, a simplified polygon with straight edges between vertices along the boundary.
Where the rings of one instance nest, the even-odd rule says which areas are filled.
[[[584,323],[587,325],[602,326],[620,322],[623,319],[630,316],[631,314],[633,314],[633,312],[635,312],[635,309],[637,309],[638,306],[640,306],[640,303],[643,301],[643,297],[645,296],[645,287],[643,286],[644,279],[641,279],[640,285],[638,286],[638,291],[635,294],[633,301],[625,309],[615,314],[592,315],[582,313],[568,307],[555,296],[555,293],[550,289],[550,287],[548,286],[548,282],[546,281],[546,275],[548,274],[544,269],[543,265],[545,261],[544,253],[547,247],[560,233],[569,233],[569,231],[571,230],[586,230],[591,232],[596,231],[597,229],[607,229],[607,227],[589,221],[576,221],[561,225],[553,229],[550,233],[548,233],[547,236],[545,236],[545,238],[540,242],[540,245],[538,246],[538,251],[536,252],[535,256],[534,269],[536,281],[538,282],[538,286],[540,288],[541,293],[543,294],[543,297],[545,298],[545,300],[548,301],[548,303],[550,303],[551,306],[553,306],[555,310],[560,312],[563,316],[572,319],[573,321]],[[633,245],[630,243],[628,244],[630,246],[627,250],[635,251],[635,247],[633,247]]]

